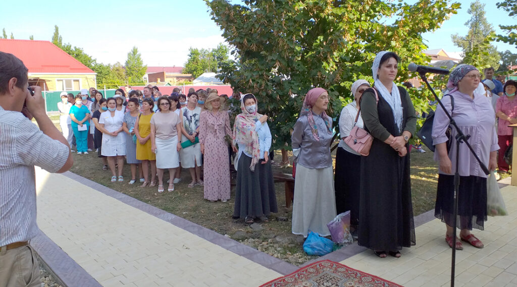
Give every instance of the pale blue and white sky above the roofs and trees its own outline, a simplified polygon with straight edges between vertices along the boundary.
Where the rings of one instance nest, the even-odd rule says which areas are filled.
[[[414,3],[415,0],[407,2]],[[467,9],[472,1],[456,2],[462,6],[458,14],[453,14],[434,33],[422,35],[429,49],[461,52],[450,36],[467,34],[468,27],[464,24],[470,18]],[[512,24],[517,19],[497,9],[496,2],[481,0],[489,23],[496,33],[501,33],[498,25]],[[50,41],[54,25],[57,25],[64,43],[82,47],[86,54],[105,64],[118,61],[124,65],[127,53],[136,46],[147,66],[183,67],[189,47],[212,49],[224,42],[222,31],[211,20],[202,0],[52,0],[45,5],[28,0],[10,2],[9,10],[11,12],[3,13],[0,18],[0,29],[5,28],[8,36],[12,33],[15,39],[29,39],[34,35],[35,40]],[[494,44],[500,52],[517,53],[515,46],[501,42]]]

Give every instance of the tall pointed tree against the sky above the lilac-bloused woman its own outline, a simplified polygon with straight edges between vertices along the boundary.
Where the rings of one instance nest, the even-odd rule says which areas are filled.
[[[470,8],[467,13],[471,15],[470,19],[465,22],[465,26],[468,26],[468,33],[466,36],[459,36],[458,34],[452,35],[452,42],[463,49],[463,62],[474,65],[482,65],[478,68],[494,67],[497,70],[499,67],[499,53],[497,48],[490,44],[493,41],[492,35],[494,28],[492,24],[488,23],[485,17],[484,4],[481,4],[479,0],[476,0],[470,4]],[[488,40],[488,44],[485,42]],[[477,49],[475,49],[477,48]],[[473,53],[476,50],[476,53]],[[481,52],[482,54],[479,54]],[[477,58],[476,62],[473,62],[473,58]],[[476,66],[476,65],[475,65]]]

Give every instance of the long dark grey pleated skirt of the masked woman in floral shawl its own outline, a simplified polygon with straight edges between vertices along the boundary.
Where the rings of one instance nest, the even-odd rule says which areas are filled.
[[[234,218],[269,216],[278,212],[271,162],[250,170],[251,157],[242,153],[237,169]]]

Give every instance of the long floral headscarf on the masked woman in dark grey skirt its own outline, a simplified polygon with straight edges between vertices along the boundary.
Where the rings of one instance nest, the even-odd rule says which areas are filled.
[[[255,104],[258,106],[257,99],[252,93],[243,94],[240,98],[240,110],[242,113],[235,117],[235,123],[233,126],[233,144],[235,145],[238,142],[239,148],[241,145],[246,145],[244,151],[247,154],[251,154],[250,170],[254,171],[255,165],[260,159],[260,145],[258,143],[255,122],[260,119],[262,115],[258,114],[256,109],[253,113],[250,113],[246,109],[246,106],[244,105],[244,96],[248,94],[253,96]]]

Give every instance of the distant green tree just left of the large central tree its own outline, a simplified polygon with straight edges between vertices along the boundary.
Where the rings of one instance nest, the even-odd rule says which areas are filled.
[[[185,63],[183,72],[192,74],[193,78],[199,77],[205,72],[217,72],[218,67],[228,60],[229,52],[230,49],[222,43],[219,43],[219,45],[211,51],[190,47],[189,58]]]

